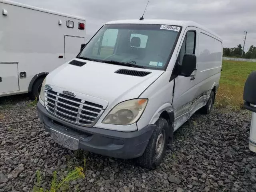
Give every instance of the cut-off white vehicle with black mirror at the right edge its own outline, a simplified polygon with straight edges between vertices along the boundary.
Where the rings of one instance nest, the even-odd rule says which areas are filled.
[[[249,149],[256,153],[256,71],[247,78],[244,85],[244,108],[252,111]]]

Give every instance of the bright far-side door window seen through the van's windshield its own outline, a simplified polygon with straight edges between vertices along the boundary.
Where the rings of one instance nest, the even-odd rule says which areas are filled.
[[[94,44],[92,55],[100,58],[106,58],[114,54],[118,29],[108,29],[104,32]]]

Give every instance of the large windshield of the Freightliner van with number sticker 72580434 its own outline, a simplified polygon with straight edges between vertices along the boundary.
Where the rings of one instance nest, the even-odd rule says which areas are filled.
[[[107,24],[88,42],[78,58],[164,70],[178,31],[179,26]]]

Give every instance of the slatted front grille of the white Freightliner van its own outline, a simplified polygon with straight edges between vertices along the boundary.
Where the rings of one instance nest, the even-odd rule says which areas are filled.
[[[45,105],[52,114],[75,124],[92,126],[102,114],[102,105],[46,89]]]

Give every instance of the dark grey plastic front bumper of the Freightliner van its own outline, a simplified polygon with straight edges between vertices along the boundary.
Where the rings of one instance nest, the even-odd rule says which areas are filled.
[[[46,131],[51,128],[79,140],[79,147],[114,158],[136,158],[142,156],[156,128],[148,125],[140,131],[121,132],[96,127],[84,127],[66,122],[50,114],[42,104],[37,104],[38,114]]]

